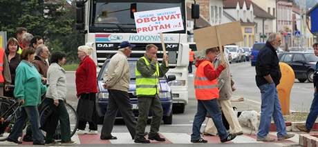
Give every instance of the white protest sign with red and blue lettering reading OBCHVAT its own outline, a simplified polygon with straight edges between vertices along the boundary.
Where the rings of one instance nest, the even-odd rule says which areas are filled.
[[[158,33],[183,30],[179,7],[134,12],[137,33]]]

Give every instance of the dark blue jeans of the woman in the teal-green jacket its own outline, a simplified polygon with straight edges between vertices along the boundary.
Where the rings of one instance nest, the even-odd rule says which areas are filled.
[[[39,130],[39,111],[37,110],[37,106],[21,107],[19,117],[15,121],[15,125],[13,126],[8,139],[17,140],[20,137],[27,119],[31,123],[33,142],[44,143],[44,135]]]

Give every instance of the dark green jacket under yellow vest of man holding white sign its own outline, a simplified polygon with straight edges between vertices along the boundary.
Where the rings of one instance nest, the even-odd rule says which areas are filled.
[[[142,75],[142,77],[151,77],[156,72],[156,61],[151,61],[146,55],[144,55],[146,59],[149,61],[149,66],[147,66],[144,59],[140,58],[138,59],[136,63],[136,68]],[[165,66],[165,60],[162,61],[161,66],[159,67],[159,77],[164,77],[165,74],[168,72],[169,67]],[[149,96],[149,95],[147,95]],[[153,95],[155,96],[155,95]],[[139,97],[139,96],[138,96]],[[140,96],[142,97],[142,95]]]

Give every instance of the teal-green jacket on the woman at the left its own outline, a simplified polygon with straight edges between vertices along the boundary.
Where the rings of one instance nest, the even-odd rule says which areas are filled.
[[[22,60],[15,75],[15,98],[24,99],[22,106],[37,106],[45,92],[46,86],[42,84],[37,68],[32,63]]]

